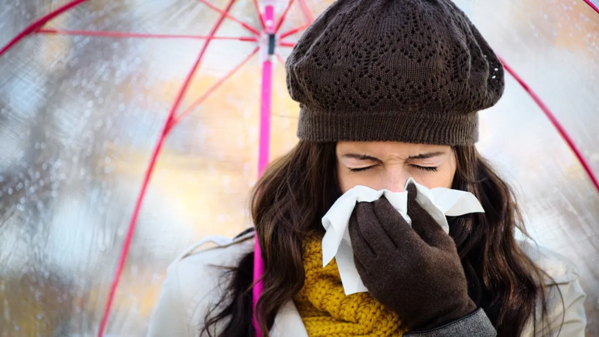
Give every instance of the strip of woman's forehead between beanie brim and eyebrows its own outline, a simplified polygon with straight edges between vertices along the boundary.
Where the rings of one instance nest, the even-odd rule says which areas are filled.
[[[428,152],[449,152],[449,145],[430,145],[403,142],[338,142],[337,154],[347,153],[368,154],[374,157],[399,155],[409,157]]]

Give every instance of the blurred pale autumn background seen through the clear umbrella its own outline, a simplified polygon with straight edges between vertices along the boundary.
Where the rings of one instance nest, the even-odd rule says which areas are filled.
[[[0,0],[0,47],[67,2]],[[289,7],[280,32],[291,46],[310,20],[305,10],[317,16],[332,1],[288,2],[274,4],[277,17]],[[455,2],[599,174],[599,13],[582,0]],[[206,43],[80,31],[205,37],[227,4],[90,0],[0,56],[0,337],[96,336],[150,154]],[[230,14],[261,25],[252,0]],[[246,39],[210,41],[190,83],[179,109],[189,114],[162,149],[107,336],[144,335],[166,267],[186,246],[251,225],[262,53],[248,56],[261,39],[230,18],[216,36]],[[299,109],[282,67],[290,51],[277,47],[271,158],[297,142]],[[515,186],[534,239],[576,263],[588,336],[599,336],[599,192],[512,77],[481,119],[480,151]]]

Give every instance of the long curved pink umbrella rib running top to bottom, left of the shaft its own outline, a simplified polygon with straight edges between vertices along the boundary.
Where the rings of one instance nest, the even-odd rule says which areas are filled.
[[[210,33],[208,34],[209,38],[206,41],[206,43],[204,44],[204,46],[202,47],[202,50],[199,52],[198,58],[196,59],[195,64],[193,64],[193,67],[191,68],[191,70],[189,71],[189,74],[187,74],[185,82],[183,83],[183,86],[181,86],[179,94],[177,94],[177,98],[175,99],[173,106],[171,107],[171,110],[168,113],[167,120],[165,121],[164,127],[162,128],[162,133],[158,139],[158,142],[156,142],[156,146],[154,148],[154,151],[152,152],[152,157],[150,157],[150,163],[147,167],[146,174],[144,176],[143,185],[141,186],[140,194],[138,195],[138,198],[137,198],[137,203],[135,204],[135,209],[133,211],[133,215],[131,216],[131,222],[129,222],[129,228],[128,228],[128,231],[127,231],[127,234],[125,237],[125,242],[123,243],[123,250],[121,252],[120,259],[119,259],[119,265],[117,266],[117,270],[114,275],[114,280],[110,287],[110,293],[108,294],[108,301],[107,301],[106,307],[104,309],[104,315],[102,315],[102,321],[100,323],[100,327],[98,330],[98,337],[102,337],[104,335],[104,330],[106,329],[106,325],[108,323],[108,317],[110,317],[110,311],[111,311],[112,303],[114,301],[114,296],[115,296],[116,290],[119,286],[119,281],[120,281],[120,277],[123,273],[123,268],[125,267],[127,255],[129,254],[129,248],[131,247],[131,241],[133,239],[133,233],[135,232],[135,225],[137,224],[137,218],[140,214],[141,204],[143,203],[144,196],[146,195],[147,187],[150,183],[150,177],[152,176],[154,168],[156,167],[156,161],[158,160],[158,155],[160,154],[162,145],[164,145],[167,135],[168,135],[169,131],[171,130],[171,124],[172,124],[173,118],[175,116],[175,113],[177,112],[177,109],[179,109],[181,101],[183,101],[183,96],[184,96],[185,92],[187,91],[187,87],[189,87],[189,83],[191,82],[191,79],[193,78],[193,74],[195,74],[195,71],[197,70],[200,62],[202,61],[202,58],[204,58],[204,53],[206,52],[206,50],[208,48],[208,44],[210,44],[211,38],[214,37],[214,34],[216,34],[216,31],[219,29],[220,25],[225,20],[226,14],[229,13],[229,11],[231,10],[231,7],[233,6],[234,3],[235,3],[235,0],[231,0],[229,2],[226,9],[220,15],[219,20],[216,22],[216,25],[214,25],[214,27],[210,30]]]

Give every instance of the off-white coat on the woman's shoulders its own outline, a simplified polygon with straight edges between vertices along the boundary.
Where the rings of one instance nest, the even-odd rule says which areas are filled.
[[[201,250],[201,246],[208,242],[215,243],[216,247]],[[222,289],[226,287],[221,282],[222,272],[213,266],[237,266],[240,258],[253,250],[253,242],[251,233],[234,241],[224,237],[211,237],[189,248],[177,258],[168,267],[167,279],[162,284],[147,337],[199,337],[207,309],[220,299]],[[527,243],[522,243],[521,246],[557,283],[550,285],[549,292],[550,333],[545,330],[533,335],[529,326],[522,336],[556,336],[562,317],[564,324],[559,336],[584,336],[585,294],[580,288],[576,270],[560,255]],[[559,298],[558,288],[564,298],[564,306]],[[562,315],[562,308],[565,308],[565,316]],[[280,310],[271,336],[308,337],[292,301]]]

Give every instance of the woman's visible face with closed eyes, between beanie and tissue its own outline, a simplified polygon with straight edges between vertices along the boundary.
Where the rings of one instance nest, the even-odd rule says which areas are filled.
[[[450,146],[400,142],[338,142],[337,175],[342,192],[356,185],[402,192],[413,177],[428,188],[451,188],[456,170]]]

